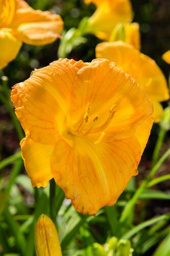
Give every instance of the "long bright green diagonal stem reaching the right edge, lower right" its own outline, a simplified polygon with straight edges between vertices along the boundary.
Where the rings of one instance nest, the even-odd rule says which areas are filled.
[[[132,209],[134,205],[136,204],[137,200],[139,199],[140,195],[143,193],[144,189],[148,186],[148,183],[150,180],[153,178],[154,174],[158,170],[158,168],[161,166],[161,164],[165,161],[165,159],[170,155],[170,148],[164,153],[164,155],[158,160],[158,162],[153,166],[151,169],[150,174],[148,177],[142,181],[141,185],[138,187],[136,190],[136,193],[132,197],[132,199],[127,203],[125,206],[122,215],[120,217],[120,222],[126,221],[128,218],[129,214],[131,214]]]

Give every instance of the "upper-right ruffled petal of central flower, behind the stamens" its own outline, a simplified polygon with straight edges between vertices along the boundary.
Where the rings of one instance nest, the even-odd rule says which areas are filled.
[[[105,131],[116,139],[132,136],[153,112],[152,103],[136,81],[106,59],[95,59],[78,71],[71,94],[72,122],[85,114],[87,105],[90,105],[88,123],[99,116],[98,126],[114,108],[114,117]]]

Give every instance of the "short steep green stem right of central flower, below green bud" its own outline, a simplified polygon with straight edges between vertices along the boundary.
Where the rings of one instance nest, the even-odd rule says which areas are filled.
[[[166,130],[160,126],[160,131],[159,131],[159,135],[158,135],[158,139],[155,145],[155,149],[154,149],[154,153],[153,153],[153,157],[152,157],[152,167],[156,164],[158,157],[159,157],[159,153],[161,150],[161,146],[162,143],[164,141],[165,135],[166,135]]]

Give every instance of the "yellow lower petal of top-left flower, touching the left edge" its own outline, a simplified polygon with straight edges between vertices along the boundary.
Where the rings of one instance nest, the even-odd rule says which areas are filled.
[[[0,29],[0,69],[5,68],[18,54],[22,43],[8,29]]]

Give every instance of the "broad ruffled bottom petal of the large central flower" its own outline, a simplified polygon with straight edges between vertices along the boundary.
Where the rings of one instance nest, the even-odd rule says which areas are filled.
[[[57,142],[51,166],[56,183],[76,210],[94,215],[101,207],[115,204],[137,174],[139,161],[135,137],[95,145],[75,136],[73,148],[63,140]]]

